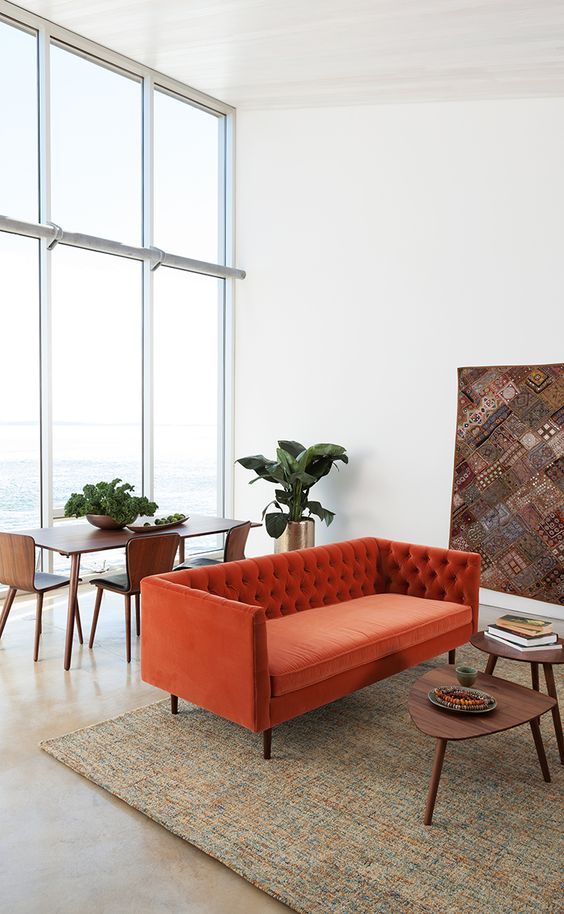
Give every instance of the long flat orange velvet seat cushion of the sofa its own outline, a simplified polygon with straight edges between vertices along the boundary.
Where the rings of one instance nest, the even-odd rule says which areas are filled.
[[[269,619],[272,695],[286,695],[472,623],[459,603],[381,593]]]

